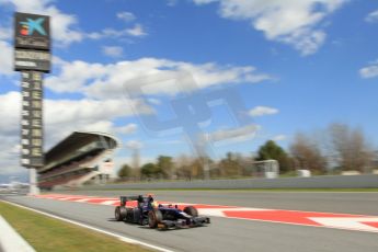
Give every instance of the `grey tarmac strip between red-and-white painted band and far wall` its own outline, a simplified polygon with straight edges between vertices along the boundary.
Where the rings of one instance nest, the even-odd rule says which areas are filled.
[[[54,192],[55,193],[55,192]],[[61,191],[118,197],[152,193],[158,201],[378,216],[378,192]]]

